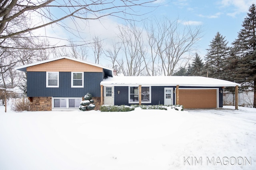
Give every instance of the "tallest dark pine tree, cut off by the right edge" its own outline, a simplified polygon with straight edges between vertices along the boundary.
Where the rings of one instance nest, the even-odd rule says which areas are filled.
[[[242,90],[254,90],[254,104],[256,107],[256,8],[252,4],[238,38],[232,43],[234,55],[238,59],[236,81],[242,84]]]

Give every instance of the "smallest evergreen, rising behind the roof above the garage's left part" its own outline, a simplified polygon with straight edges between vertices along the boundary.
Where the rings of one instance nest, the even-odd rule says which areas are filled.
[[[188,75],[191,76],[202,76],[202,70],[204,68],[204,63],[202,62],[202,59],[199,57],[198,53],[196,53],[196,57],[194,58],[191,68],[188,69],[190,73]]]

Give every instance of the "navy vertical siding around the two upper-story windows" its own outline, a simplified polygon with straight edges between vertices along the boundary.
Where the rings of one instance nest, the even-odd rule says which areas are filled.
[[[84,72],[84,88],[71,88],[71,72],[59,72],[59,88],[46,88],[46,72],[27,72],[28,97],[100,97],[102,72]]]

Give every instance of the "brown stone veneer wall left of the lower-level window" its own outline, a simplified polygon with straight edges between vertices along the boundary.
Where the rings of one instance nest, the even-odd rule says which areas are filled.
[[[33,97],[30,111],[52,111],[52,97]]]

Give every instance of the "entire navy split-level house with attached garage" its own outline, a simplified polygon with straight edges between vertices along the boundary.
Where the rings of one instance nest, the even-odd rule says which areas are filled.
[[[83,96],[101,105],[174,105],[184,108],[223,106],[223,88],[240,84],[199,76],[115,76],[113,69],[70,57],[16,68],[27,74],[32,111],[78,109]],[[236,106],[237,107],[237,106]]]

